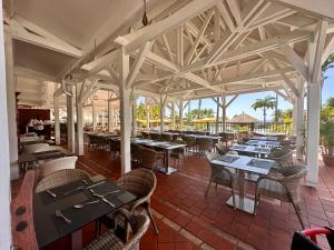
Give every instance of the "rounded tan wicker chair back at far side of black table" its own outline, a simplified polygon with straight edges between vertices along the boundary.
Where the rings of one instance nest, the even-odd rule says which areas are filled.
[[[62,169],[45,176],[36,186],[35,192],[42,192],[47,189],[53,189],[70,182],[88,179],[89,174],[79,169]]]

